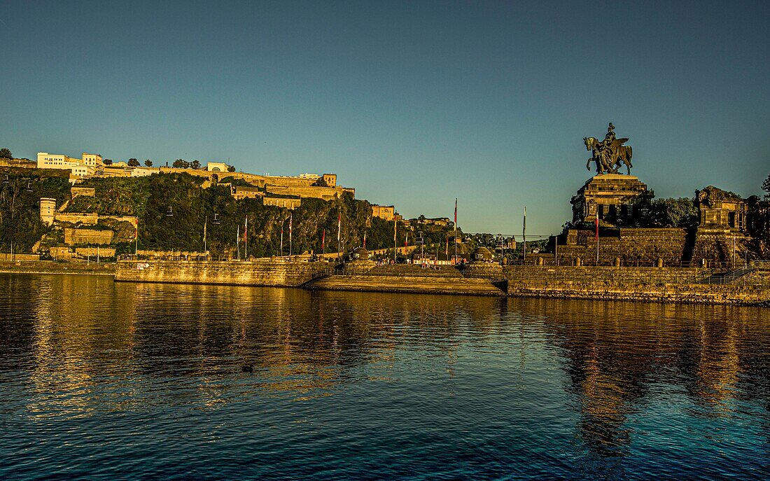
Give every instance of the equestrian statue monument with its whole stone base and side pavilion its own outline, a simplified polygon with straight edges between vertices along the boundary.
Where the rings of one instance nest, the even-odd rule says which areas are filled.
[[[572,220],[561,235],[551,238],[551,252],[562,266],[581,262],[609,265],[702,266],[728,262],[742,266],[752,237],[752,199],[708,186],[695,191],[698,225],[661,225],[659,212],[651,210],[654,192],[631,175],[631,146],[618,139],[614,125],[599,141],[584,138],[596,175],[571,198]],[[625,166],[626,173],[619,172]],[[597,249],[597,246],[599,249]],[[533,262],[535,262],[533,256]]]

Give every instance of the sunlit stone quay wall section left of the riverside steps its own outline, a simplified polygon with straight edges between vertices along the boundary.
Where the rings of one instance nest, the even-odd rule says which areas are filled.
[[[323,262],[119,261],[115,280],[299,287],[332,266]]]

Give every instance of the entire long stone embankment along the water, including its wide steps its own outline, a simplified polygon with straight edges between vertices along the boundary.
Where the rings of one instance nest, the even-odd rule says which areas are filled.
[[[355,266],[325,262],[120,261],[118,282],[283,286],[313,290],[521,296],[767,306],[770,266],[735,272],[699,268],[591,266]]]

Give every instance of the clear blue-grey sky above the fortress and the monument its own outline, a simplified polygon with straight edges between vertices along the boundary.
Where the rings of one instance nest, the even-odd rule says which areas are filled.
[[[335,172],[549,234],[629,137],[658,197],[770,172],[770,2],[0,2],[0,146]]]

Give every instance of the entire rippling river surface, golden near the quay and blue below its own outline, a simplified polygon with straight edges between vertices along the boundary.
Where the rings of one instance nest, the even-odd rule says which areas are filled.
[[[0,275],[0,479],[763,479],[768,409],[768,309]]]

